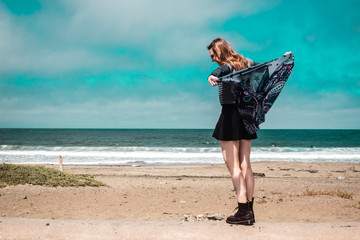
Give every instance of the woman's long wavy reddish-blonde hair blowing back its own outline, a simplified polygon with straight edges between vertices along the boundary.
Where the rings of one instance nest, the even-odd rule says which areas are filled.
[[[220,66],[230,64],[235,70],[240,70],[248,67],[248,61],[241,54],[235,52],[230,43],[222,38],[214,39],[207,49],[212,49],[215,54],[215,62]]]

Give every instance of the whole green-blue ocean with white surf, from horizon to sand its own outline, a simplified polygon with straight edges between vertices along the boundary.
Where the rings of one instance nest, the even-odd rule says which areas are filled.
[[[164,166],[223,163],[212,129],[0,129],[0,163]],[[360,162],[360,130],[258,131],[251,161]]]

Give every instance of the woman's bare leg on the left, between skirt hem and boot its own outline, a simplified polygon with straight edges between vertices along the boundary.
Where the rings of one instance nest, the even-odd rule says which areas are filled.
[[[238,203],[246,203],[246,185],[243,174],[240,170],[239,147],[240,141],[220,141],[222,154],[226,166],[230,172],[235,188]]]

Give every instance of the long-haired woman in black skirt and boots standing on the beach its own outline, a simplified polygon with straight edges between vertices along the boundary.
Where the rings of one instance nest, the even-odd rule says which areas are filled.
[[[220,140],[224,161],[230,172],[236,192],[238,211],[227,218],[231,224],[251,225],[255,222],[253,211],[254,175],[250,164],[251,140],[257,135],[249,134],[236,109],[235,96],[231,86],[218,83],[219,77],[233,71],[250,67],[256,63],[236,53],[230,44],[222,38],[213,40],[207,47],[211,60],[219,67],[208,77],[211,86],[219,86],[221,115],[213,137]]]

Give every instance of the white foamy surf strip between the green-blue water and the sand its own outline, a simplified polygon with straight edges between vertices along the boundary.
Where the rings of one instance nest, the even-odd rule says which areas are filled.
[[[177,165],[223,163],[219,147],[45,147],[0,146],[0,162],[57,164]],[[360,148],[254,147],[252,161],[360,162]]]

